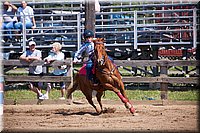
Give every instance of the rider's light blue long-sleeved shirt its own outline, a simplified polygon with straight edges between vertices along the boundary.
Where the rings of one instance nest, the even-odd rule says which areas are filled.
[[[84,53],[84,55],[83,55]],[[89,61],[94,53],[94,43],[85,42],[81,48],[75,53],[74,58],[81,58],[81,56],[89,57],[86,61]]]

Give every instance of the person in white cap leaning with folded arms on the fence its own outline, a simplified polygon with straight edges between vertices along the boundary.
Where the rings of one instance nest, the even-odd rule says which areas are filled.
[[[30,41],[28,43],[29,45],[29,49],[26,50],[20,57],[20,60],[24,60],[26,62],[31,62],[33,60],[41,60],[42,59],[42,53],[40,50],[37,50],[35,48],[36,43],[34,41]],[[29,73],[28,75],[31,76],[38,76],[38,75],[42,75],[42,66],[30,66],[29,67]],[[29,83],[29,88],[34,91],[35,93],[37,93],[37,97],[39,98],[40,96],[42,96],[41,93],[41,88],[42,88],[42,83],[40,82],[30,82]]]

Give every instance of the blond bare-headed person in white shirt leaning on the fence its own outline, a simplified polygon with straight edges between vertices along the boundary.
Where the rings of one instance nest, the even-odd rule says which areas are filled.
[[[62,53],[60,50],[61,50],[62,46],[60,43],[58,42],[55,42],[52,44],[52,50],[50,52],[50,54],[48,55],[48,57],[44,58],[44,60],[47,62],[47,63],[50,63],[52,61],[55,61],[55,60],[64,60],[65,58],[65,55],[64,53]],[[53,73],[52,75],[53,76],[66,76],[67,74],[67,69],[65,66],[60,66],[60,67],[56,67],[54,68],[53,70]],[[60,82],[60,87],[61,87],[61,97],[59,98],[60,100],[64,100],[65,97],[65,83],[64,82]],[[51,84],[48,83],[47,84],[47,90],[50,90],[51,89]],[[48,99],[48,92],[46,94],[44,94],[42,97],[40,97],[39,99]]]

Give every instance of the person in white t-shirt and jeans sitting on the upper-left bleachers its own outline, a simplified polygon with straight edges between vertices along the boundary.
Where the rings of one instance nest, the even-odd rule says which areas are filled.
[[[16,29],[23,28],[23,19],[25,19],[25,24],[27,29],[36,28],[35,18],[33,8],[27,6],[26,1],[21,2],[22,7],[17,9],[18,23],[15,23]]]

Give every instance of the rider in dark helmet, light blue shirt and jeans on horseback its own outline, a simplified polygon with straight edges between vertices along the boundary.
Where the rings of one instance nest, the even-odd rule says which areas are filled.
[[[74,55],[74,63],[80,62],[82,56],[87,57],[86,63],[86,72],[88,79],[94,84],[98,85],[95,75],[92,73],[93,68],[93,56],[94,56],[94,32],[91,30],[85,30],[83,33],[84,43]],[[84,55],[83,55],[84,54]]]

